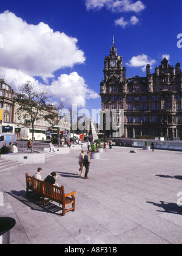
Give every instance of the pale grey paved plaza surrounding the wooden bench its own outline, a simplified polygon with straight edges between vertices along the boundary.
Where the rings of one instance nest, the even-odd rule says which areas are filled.
[[[16,220],[10,243],[182,243],[182,152],[130,150],[107,148],[92,159],[89,179],[76,175],[79,150],[1,171],[0,216]],[[55,202],[42,206],[35,193],[26,197],[25,173],[32,176],[38,167],[42,179],[56,171],[65,192],[76,191],[75,212],[61,216]]]

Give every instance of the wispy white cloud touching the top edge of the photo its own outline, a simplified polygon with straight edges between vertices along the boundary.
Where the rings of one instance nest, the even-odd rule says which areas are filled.
[[[141,1],[132,0],[86,0],[87,10],[98,10],[106,7],[112,12],[135,12],[140,13],[145,9],[145,5]]]

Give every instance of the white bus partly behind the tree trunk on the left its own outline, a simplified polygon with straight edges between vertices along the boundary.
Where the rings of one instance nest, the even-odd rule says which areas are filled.
[[[32,129],[31,128],[21,128],[20,130],[20,139],[21,140],[29,140],[32,139]],[[42,129],[34,129],[33,140],[46,140],[45,130]]]

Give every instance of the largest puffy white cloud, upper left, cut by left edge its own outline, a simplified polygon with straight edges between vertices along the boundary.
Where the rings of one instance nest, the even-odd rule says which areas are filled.
[[[0,32],[4,38],[0,66],[48,78],[62,67],[85,61],[76,38],[53,32],[43,22],[30,25],[14,13],[4,12],[0,14]]]

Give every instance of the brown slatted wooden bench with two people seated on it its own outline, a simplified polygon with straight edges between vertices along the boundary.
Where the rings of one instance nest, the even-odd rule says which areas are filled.
[[[76,191],[71,193],[64,193],[64,186],[58,187],[45,181],[35,179],[26,173],[26,195],[29,196],[29,190],[38,193],[42,196],[42,204],[44,204],[45,198],[62,204],[62,215],[72,210],[75,211],[75,194]],[[66,209],[68,204],[72,204],[72,207]]]

